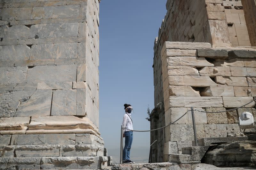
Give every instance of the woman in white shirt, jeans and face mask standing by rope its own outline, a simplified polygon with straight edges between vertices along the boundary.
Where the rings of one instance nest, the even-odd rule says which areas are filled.
[[[124,104],[125,114],[123,117],[123,138],[125,137],[124,142],[124,152],[123,152],[123,164],[133,164],[135,162],[130,160],[130,150],[132,147],[132,139],[133,139],[133,130],[132,127],[132,106],[130,104]]]

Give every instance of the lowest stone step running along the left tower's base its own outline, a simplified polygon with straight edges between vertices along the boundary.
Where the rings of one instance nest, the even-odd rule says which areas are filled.
[[[0,158],[0,169],[101,169],[112,164],[112,157],[27,157]]]

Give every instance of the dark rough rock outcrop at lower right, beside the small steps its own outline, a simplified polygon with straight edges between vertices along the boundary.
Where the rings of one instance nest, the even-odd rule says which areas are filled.
[[[215,166],[252,166],[255,159],[256,141],[236,141],[218,145],[212,151],[208,151],[203,161]]]

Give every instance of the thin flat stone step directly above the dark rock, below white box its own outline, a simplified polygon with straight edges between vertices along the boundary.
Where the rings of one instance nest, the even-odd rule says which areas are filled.
[[[220,138],[201,138],[197,140],[198,146],[210,146],[211,144],[218,144],[224,142],[235,142],[241,140],[248,140],[248,137],[220,137]],[[195,146],[195,141],[192,141],[192,145]]]

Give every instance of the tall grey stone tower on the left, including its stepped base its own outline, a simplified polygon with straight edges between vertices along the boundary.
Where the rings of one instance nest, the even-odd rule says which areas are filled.
[[[0,1],[0,169],[99,169],[100,0]]]

